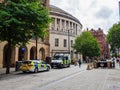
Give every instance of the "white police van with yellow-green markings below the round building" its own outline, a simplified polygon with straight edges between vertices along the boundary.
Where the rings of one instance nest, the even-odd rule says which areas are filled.
[[[51,60],[52,68],[70,67],[70,64],[71,64],[70,54],[64,54],[64,53],[55,54],[55,56]]]

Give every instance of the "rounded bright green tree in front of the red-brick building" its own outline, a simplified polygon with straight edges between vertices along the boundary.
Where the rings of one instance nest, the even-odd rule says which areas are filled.
[[[90,58],[100,55],[100,47],[97,40],[89,31],[84,31],[75,40],[73,48],[83,54],[83,56],[88,56]]]

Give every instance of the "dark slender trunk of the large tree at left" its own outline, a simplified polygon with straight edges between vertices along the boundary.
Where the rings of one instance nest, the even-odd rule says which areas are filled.
[[[12,55],[12,46],[11,42],[8,42],[8,57],[6,60],[6,74],[10,73],[10,64],[11,64],[11,55]]]

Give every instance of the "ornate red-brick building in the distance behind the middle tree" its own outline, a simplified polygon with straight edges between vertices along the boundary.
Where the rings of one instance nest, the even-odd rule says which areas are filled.
[[[92,35],[97,39],[100,49],[101,49],[101,58],[108,58],[109,55],[109,46],[106,42],[106,35],[104,34],[103,30],[101,28],[98,28],[98,30],[91,29],[90,32]]]

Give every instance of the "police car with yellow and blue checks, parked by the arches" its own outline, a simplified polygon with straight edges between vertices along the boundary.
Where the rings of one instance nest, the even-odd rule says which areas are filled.
[[[26,60],[22,62],[20,70],[25,72],[49,71],[51,66],[43,60]]]

